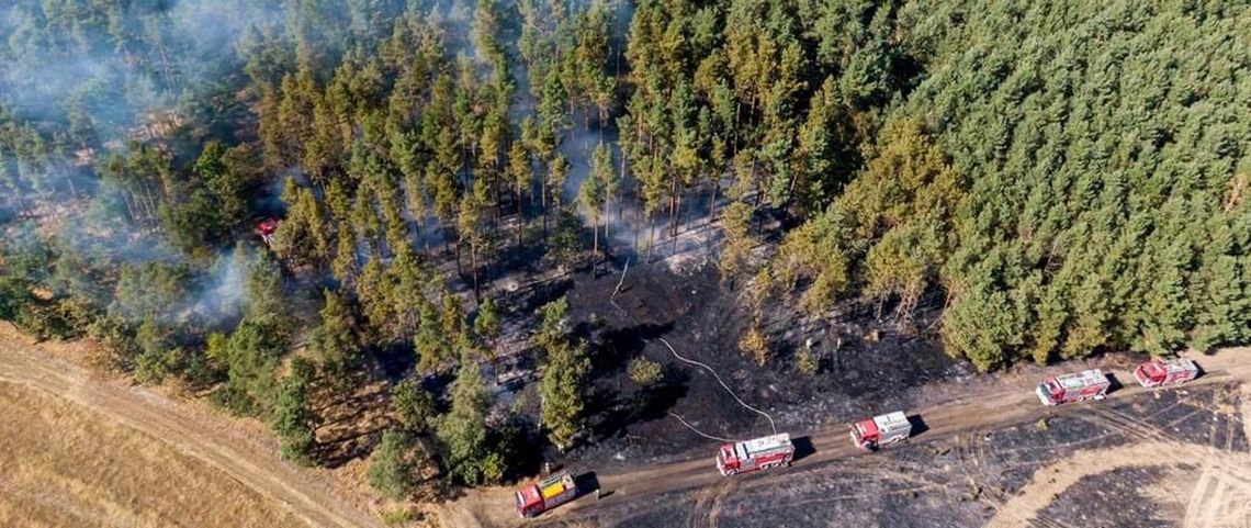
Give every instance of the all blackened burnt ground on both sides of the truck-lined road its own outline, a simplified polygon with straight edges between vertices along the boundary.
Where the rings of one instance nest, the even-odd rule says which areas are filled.
[[[933,335],[914,330],[929,325],[928,318],[937,309],[928,314],[922,310],[911,325],[897,325],[879,323],[874,307],[856,304],[819,320],[768,307],[766,328],[771,340],[782,345],[764,367],[758,367],[737,345],[751,324],[751,314],[739,307],[739,293],[724,288],[712,267],[683,274],[659,264],[632,267],[615,303],[610,303],[619,279],[619,268],[597,278],[575,273],[527,294],[543,300],[567,295],[575,328],[593,342],[594,372],[585,387],[592,433],[569,453],[544,454],[558,467],[628,473],[689,460],[707,452],[712,470],[711,453],[718,442],[688,430],[669,413],[717,437],[771,433],[767,420],[739,407],[702,369],[676,360],[659,338],[684,357],[716,368],[742,399],[771,413],[778,430],[796,435],[874,413],[932,408],[967,393],[993,393],[995,387],[1002,389],[1005,384],[1028,390],[1026,387],[1045,370],[1020,365],[1005,373],[978,375],[967,363],[945,355]],[[520,298],[513,303],[517,313],[533,309],[518,305],[538,304],[515,300]],[[794,369],[793,352],[786,345],[807,339],[813,340],[822,365],[812,377]],[[666,383],[642,389],[628,379],[626,364],[639,355],[666,367]],[[1071,362],[1066,369],[1096,362],[1102,367],[1125,367],[1138,359],[1106,357]],[[512,409],[537,414],[533,385],[522,383],[503,393]],[[1051,465],[1077,452],[1180,443],[1243,454],[1248,445],[1237,413],[1240,399],[1237,384],[1217,383],[1113,398],[1076,410],[1051,412],[1040,405],[1038,415],[1047,417],[1040,423],[934,440],[927,440],[922,433],[877,454],[741,475],[693,490],[663,493],[644,504],[609,498],[567,523],[573,527],[985,525],[1001,510],[1017,508],[1013,504],[1023,498],[1033,499],[1025,497],[1022,488],[1038,485],[1040,479],[1046,487]],[[802,437],[797,444],[802,447],[801,440]],[[816,447],[824,448],[824,444]],[[1186,498],[1163,500],[1167,504],[1161,505],[1160,495],[1178,494],[1178,485],[1180,494],[1186,495],[1197,484],[1193,478],[1183,477],[1198,462],[1188,465],[1187,460],[1167,453],[1151,453],[1161,457],[1158,464],[1096,468],[1090,474],[1082,473],[1071,485],[1046,492],[1038,504],[1041,509],[1028,524],[1176,525],[1187,510]],[[560,517],[550,522],[565,523]]]

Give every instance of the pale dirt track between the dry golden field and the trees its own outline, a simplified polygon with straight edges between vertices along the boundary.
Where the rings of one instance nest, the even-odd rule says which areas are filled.
[[[13,339],[0,340],[0,380],[69,399],[159,438],[274,500],[310,527],[375,528],[323,483],[276,458],[276,452],[233,434],[206,413],[189,413],[143,388],[88,379],[88,372]],[[174,485],[175,483],[170,483]]]

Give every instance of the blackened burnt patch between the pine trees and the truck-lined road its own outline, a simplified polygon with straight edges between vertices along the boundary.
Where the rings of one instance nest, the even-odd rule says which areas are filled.
[[[886,407],[906,408],[913,397],[907,389],[971,374],[970,367],[945,355],[933,339],[876,325],[867,308],[799,324],[781,305],[766,310],[766,332],[776,350],[759,367],[738,348],[752,320],[738,302],[742,292],[726,288],[714,267],[684,274],[663,264],[632,267],[614,299],[619,269],[595,279],[580,275],[569,287],[568,299],[569,313],[592,335],[597,350],[588,388],[593,437],[562,462],[593,459],[597,468],[612,470],[667,462],[716,444],[668,413],[714,437],[772,433],[764,418],[739,407],[706,370],[677,360],[659,338],[683,357],[713,367],[739,398],[772,414],[778,430],[844,423]],[[866,339],[874,327],[876,339]],[[783,329],[792,334],[784,335]],[[807,339],[821,363],[812,377],[796,370],[793,352],[786,345]],[[626,364],[639,355],[664,365],[666,383],[641,389],[629,380]]]

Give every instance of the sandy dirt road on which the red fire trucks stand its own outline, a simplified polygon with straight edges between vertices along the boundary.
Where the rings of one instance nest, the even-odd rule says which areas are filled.
[[[1223,349],[1211,355],[1195,354],[1193,358],[1203,367],[1205,375],[1192,382],[1191,387],[1251,380],[1251,349]],[[1063,370],[1063,365],[1057,368],[1057,372],[1061,370]],[[1135,383],[1128,372],[1115,369],[1105,369],[1105,372],[1108,372],[1122,384],[1108,398],[1128,398],[1148,392]],[[1083,410],[1081,404],[1053,409],[1045,408],[1033,394],[1031,383],[1035,382],[1005,383],[991,393],[970,394],[948,402],[936,402],[929,408],[909,409],[908,414],[918,414],[926,425],[917,440],[952,439],[975,432],[1030,423],[1047,415],[1065,415]],[[791,433],[793,438],[797,438],[797,443],[802,444],[806,438],[813,448],[813,453],[794,462],[796,468],[814,468],[836,459],[862,454],[852,445],[846,428],[822,429],[807,437],[803,432],[792,430]],[[739,475],[736,480],[749,482],[752,485],[768,485],[771,482],[784,479],[784,473],[759,472]],[[696,488],[707,489],[711,490],[709,497],[697,497],[697,503],[709,503],[707,508],[701,509],[708,509],[706,513],[711,514],[718,507],[718,497],[724,494],[718,489],[726,484],[727,479],[713,469],[712,452],[709,450],[706,457],[693,457],[686,462],[641,468],[623,474],[600,474],[598,480],[600,488],[613,492],[609,498],[604,499],[605,505],[609,500],[613,503],[633,502],[638,509],[648,509],[648,500],[654,502],[664,494]],[[592,513],[597,504],[593,498],[583,498],[553,510],[549,517],[545,517],[547,520],[569,522],[580,518],[583,513]],[[447,520],[450,525],[463,528],[519,525],[519,519],[512,515],[510,507],[510,490],[508,489],[477,490],[457,504],[452,504],[450,509],[458,514],[447,515]],[[475,518],[465,522],[465,512],[473,512]]]

